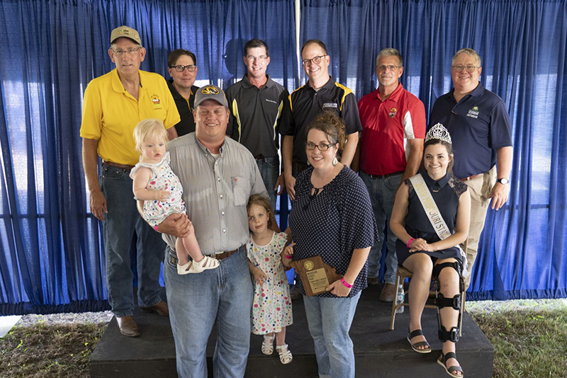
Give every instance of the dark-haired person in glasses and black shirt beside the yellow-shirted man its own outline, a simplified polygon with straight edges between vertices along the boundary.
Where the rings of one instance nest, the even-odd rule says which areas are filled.
[[[167,57],[167,71],[172,76],[167,85],[181,116],[181,122],[175,125],[178,137],[195,131],[193,101],[198,86],[193,84],[197,77],[196,62],[195,54],[184,49],[173,50]]]

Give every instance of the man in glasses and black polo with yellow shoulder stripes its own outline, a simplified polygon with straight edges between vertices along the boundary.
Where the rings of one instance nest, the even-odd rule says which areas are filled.
[[[344,120],[347,127],[347,144],[342,151],[342,164],[349,166],[359,142],[362,126],[354,93],[329,76],[331,59],[327,47],[320,40],[308,40],[301,47],[301,62],[308,82],[289,96],[289,105],[282,115],[280,134],[281,158],[286,189],[293,200],[295,176],[307,168],[305,155],[305,130],[309,123],[323,110],[331,110]]]

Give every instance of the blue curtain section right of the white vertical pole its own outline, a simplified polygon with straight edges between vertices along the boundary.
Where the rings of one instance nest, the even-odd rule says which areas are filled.
[[[481,55],[483,85],[510,112],[514,162],[510,200],[488,212],[467,298],[567,297],[566,1],[302,4],[301,41],[327,44],[332,76],[357,98],[376,89],[378,52],[395,47],[402,84],[429,115],[452,88],[454,53],[471,47]]]

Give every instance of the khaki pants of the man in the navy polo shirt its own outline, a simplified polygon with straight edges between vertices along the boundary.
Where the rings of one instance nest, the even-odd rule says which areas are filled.
[[[478,253],[478,241],[481,239],[486,212],[490,204],[488,196],[496,183],[496,167],[493,166],[483,176],[464,181],[464,183],[468,185],[468,192],[471,194],[471,226],[468,229],[468,249],[466,251],[468,271],[471,272]],[[464,248],[464,244],[461,244],[461,248]],[[466,277],[466,287],[468,288],[469,285],[471,285],[471,274]]]

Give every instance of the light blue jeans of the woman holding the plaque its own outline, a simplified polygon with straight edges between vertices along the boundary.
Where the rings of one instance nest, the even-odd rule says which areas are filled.
[[[360,292],[350,298],[303,296],[321,378],[354,378],[354,350],[349,330],[359,298]]]

